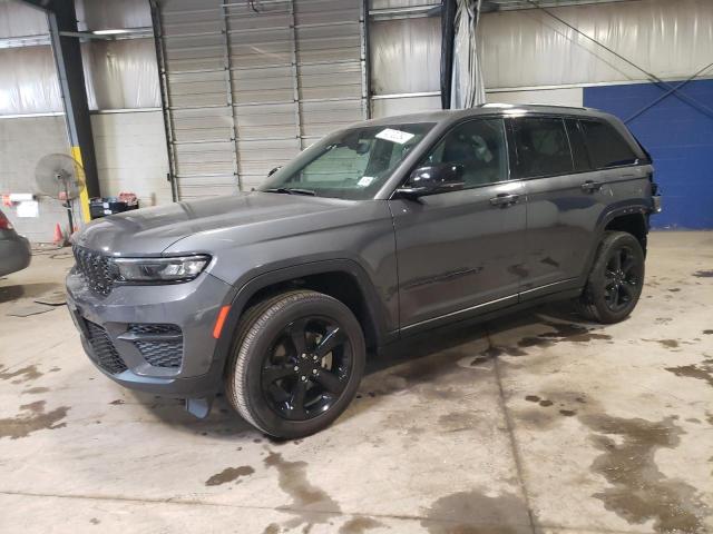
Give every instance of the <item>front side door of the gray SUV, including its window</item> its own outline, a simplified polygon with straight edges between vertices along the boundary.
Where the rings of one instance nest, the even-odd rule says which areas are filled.
[[[508,160],[505,121],[470,119],[420,164],[463,166],[463,189],[389,200],[402,329],[517,303],[526,206]]]

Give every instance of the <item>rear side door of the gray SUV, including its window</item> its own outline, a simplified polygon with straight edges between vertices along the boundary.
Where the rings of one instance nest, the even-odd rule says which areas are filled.
[[[566,289],[586,261],[592,228],[602,211],[598,194],[583,188],[589,161],[576,121],[563,117],[509,119],[514,171],[527,195],[525,300]]]

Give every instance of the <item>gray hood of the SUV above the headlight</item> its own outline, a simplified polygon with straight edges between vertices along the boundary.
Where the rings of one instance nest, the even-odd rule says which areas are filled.
[[[158,256],[174,243],[195,234],[275,220],[322,219],[314,216],[342,210],[352,204],[322,197],[243,192],[106,217],[89,224],[72,241],[113,256]]]

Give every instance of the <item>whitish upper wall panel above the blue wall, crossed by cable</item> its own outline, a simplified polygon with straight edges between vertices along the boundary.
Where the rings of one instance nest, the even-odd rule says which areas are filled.
[[[551,12],[661,78],[686,78],[713,58],[711,0],[615,2]],[[646,79],[537,9],[486,13],[479,29],[487,88]]]

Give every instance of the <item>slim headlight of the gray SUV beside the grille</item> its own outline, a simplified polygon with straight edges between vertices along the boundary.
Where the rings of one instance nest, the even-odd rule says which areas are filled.
[[[188,281],[198,276],[211,261],[209,256],[176,258],[114,258],[113,275],[116,281],[175,283]]]

